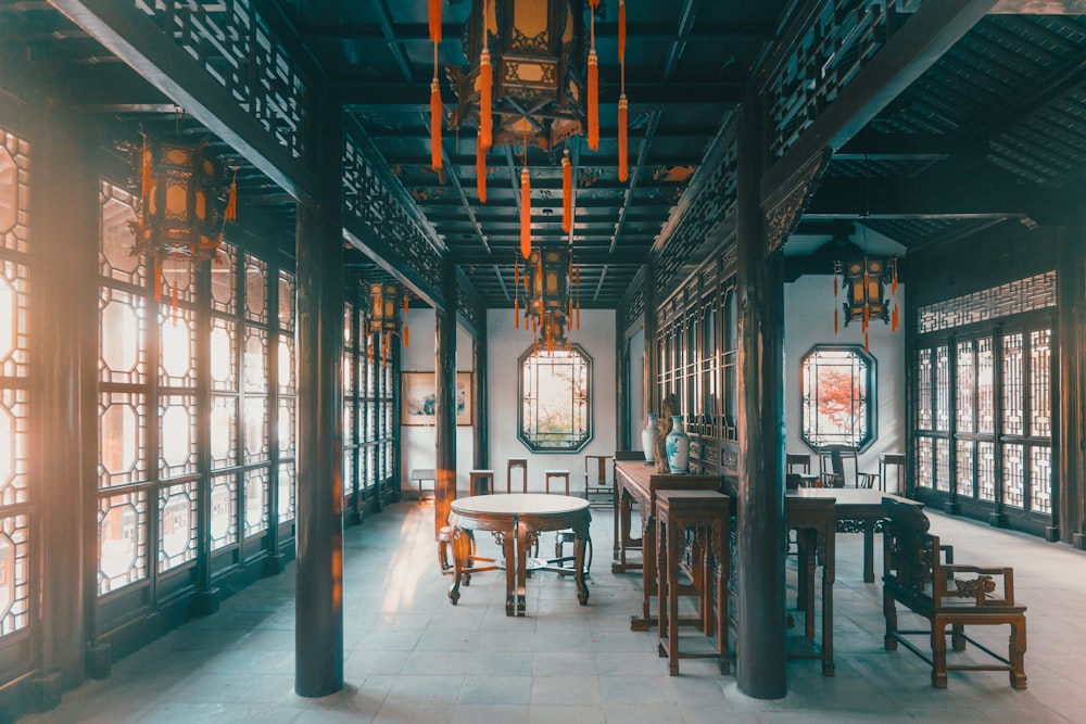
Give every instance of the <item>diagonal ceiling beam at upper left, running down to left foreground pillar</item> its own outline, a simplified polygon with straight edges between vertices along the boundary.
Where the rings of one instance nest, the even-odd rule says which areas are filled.
[[[318,195],[316,175],[134,5],[113,0],[50,0],[50,3],[291,196],[303,200]]]

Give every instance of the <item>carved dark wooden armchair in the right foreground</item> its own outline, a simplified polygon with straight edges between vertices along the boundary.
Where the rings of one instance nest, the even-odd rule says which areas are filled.
[[[962,566],[952,562],[952,549],[927,532],[927,516],[919,506],[885,498],[883,529],[883,614],[885,646],[900,642],[932,666],[932,686],[946,688],[947,671],[1006,671],[1011,686],[1024,689],[1025,606],[1014,604],[1014,572],[1010,568]],[[944,560],[945,558],[945,560]],[[905,631],[897,625],[900,602],[931,622],[929,631]],[[1002,657],[965,636],[967,625],[1010,625],[1010,644]],[[947,663],[947,626],[955,651],[965,643],[988,655],[983,662]],[[931,637],[931,657],[906,638]]]

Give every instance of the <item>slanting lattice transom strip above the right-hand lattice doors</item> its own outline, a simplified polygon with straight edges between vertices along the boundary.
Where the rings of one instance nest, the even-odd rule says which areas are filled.
[[[1056,306],[1056,271],[936,302],[917,310],[924,334]]]

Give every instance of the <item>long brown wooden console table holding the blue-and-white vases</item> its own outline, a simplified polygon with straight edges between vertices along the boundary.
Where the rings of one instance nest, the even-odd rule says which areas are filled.
[[[611,572],[641,569],[643,596],[641,617],[631,617],[631,631],[647,631],[656,623],[649,610],[649,599],[656,595],[656,492],[720,491],[719,475],[675,475],[656,472],[655,465],[644,460],[623,460],[615,457],[615,550]],[[641,537],[630,532],[633,504],[641,517]],[[627,551],[641,550],[641,563],[627,560]]]

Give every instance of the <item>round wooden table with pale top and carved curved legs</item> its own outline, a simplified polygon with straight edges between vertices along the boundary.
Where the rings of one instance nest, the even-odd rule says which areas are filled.
[[[528,549],[545,531],[573,531],[573,569],[577,599],[589,602],[584,583],[584,549],[589,541],[589,501],[568,495],[508,493],[505,495],[472,495],[453,500],[449,524],[463,543],[454,543],[455,574],[449,598],[459,599],[460,579],[469,574],[470,560],[465,532],[490,531],[502,545],[505,555],[505,614],[525,615]]]

